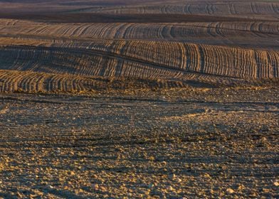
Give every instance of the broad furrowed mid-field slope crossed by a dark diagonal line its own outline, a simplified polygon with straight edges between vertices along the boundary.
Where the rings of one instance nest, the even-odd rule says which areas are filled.
[[[191,43],[100,41],[0,50],[1,69],[6,70],[165,79],[184,73],[251,79],[279,74],[278,51]]]

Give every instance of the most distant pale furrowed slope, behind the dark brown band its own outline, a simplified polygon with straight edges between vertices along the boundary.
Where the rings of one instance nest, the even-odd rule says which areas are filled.
[[[94,6],[92,8],[66,11],[72,14],[184,14],[192,16],[230,16],[234,18],[265,18],[278,20],[277,1],[163,1],[161,4],[135,6]]]

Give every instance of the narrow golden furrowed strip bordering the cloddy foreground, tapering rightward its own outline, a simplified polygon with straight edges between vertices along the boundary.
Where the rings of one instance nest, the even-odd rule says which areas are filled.
[[[104,78],[42,72],[0,70],[0,92],[95,92],[186,87],[187,82],[136,78]]]

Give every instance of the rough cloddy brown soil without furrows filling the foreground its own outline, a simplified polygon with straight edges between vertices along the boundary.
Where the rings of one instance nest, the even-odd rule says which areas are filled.
[[[171,95],[1,94],[0,198],[279,197],[278,89]]]

